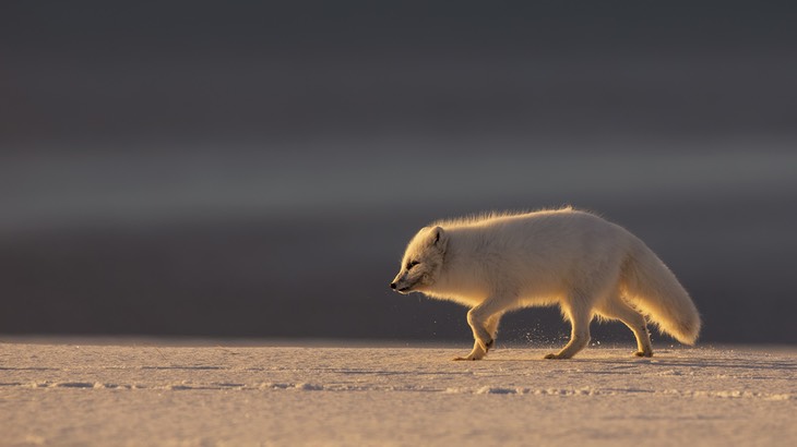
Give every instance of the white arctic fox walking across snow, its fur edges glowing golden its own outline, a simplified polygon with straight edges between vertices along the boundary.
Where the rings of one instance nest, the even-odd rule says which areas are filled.
[[[559,304],[570,341],[546,359],[569,359],[590,341],[597,315],[619,319],[637,337],[639,357],[652,357],[645,316],[686,345],[700,315],[675,275],[641,240],[593,214],[563,208],[443,220],[409,241],[390,287],[468,306],[473,350],[454,360],[480,360],[501,316],[515,309]]]

